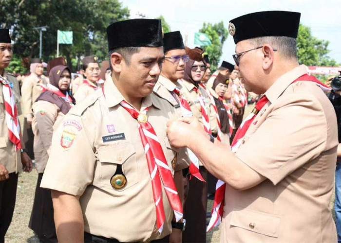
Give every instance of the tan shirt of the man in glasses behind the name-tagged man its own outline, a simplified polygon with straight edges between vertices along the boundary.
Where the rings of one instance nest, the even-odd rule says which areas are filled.
[[[169,79],[160,75],[153,91],[157,96],[165,99],[174,107],[177,116],[182,117],[183,114],[180,107],[180,101],[178,100],[176,95],[175,97],[172,95],[175,87],[178,87],[180,90],[182,88],[178,82],[173,83]],[[189,167],[190,161],[186,149],[179,150],[177,161],[178,163],[175,167],[175,171],[180,171]]]

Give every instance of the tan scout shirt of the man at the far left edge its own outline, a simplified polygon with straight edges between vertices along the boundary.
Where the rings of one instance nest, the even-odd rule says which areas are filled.
[[[14,100],[17,105],[18,116],[21,115],[19,84],[13,74],[4,71],[2,77],[10,82],[10,87],[14,93]],[[8,127],[6,122],[5,104],[2,93],[2,84],[0,85],[0,162],[5,166],[8,173],[18,173],[21,168],[21,152],[16,151],[15,145],[8,138]]]

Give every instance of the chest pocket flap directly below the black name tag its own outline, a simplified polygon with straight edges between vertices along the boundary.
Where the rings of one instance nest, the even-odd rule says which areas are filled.
[[[135,149],[130,143],[98,149],[98,159],[103,163],[123,164],[133,154],[135,154]]]

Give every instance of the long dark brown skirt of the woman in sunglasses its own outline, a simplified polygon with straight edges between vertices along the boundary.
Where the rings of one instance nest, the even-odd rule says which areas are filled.
[[[207,170],[200,166],[200,174],[207,181]],[[184,207],[186,228],[182,233],[184,243],[206,243],[207,185],[197,178],[189,180],[189,192]]]

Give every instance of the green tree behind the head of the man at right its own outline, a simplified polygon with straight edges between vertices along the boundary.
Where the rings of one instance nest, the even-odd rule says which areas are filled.
[[[339,66],[328,56],[329,41],[311,35],[309,27],[300,24],[297,36],[297,55],[299,63],[306,66]]]

